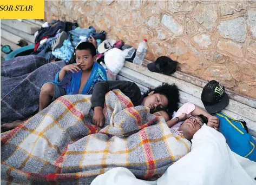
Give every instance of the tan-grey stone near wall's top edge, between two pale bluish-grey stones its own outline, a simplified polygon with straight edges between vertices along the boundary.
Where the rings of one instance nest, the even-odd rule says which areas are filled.
[[[198,4],[193,17],[206,29],[213,31],[218,19],[217,6],[215,4]]]

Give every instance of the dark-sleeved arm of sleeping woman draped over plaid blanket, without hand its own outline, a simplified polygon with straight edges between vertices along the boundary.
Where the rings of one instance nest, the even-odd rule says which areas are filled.
[[[140,88],[129,81],[102,81],[94,85],[93,94],[91,96],[91,107],[104,107],[105,95],[113,89],[120,89],[124,95],[128,96],[130,100],[138,101],[141,97]]]

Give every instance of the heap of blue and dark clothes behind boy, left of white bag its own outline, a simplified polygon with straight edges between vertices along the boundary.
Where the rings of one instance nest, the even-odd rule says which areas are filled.
[[[69,63],[74,47],[82,40],[93,36],[100,44],[106,38],[106,31],[96,32],[94,27],[80,28],[77,23],[52,21],[45,22],[35,33],[35,48],[31,55],[44,57],[48,62],[63,60]]]

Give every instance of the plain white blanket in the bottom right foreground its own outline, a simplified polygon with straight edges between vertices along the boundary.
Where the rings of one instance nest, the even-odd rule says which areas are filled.
[[[157,181],[143,181],[126,168],[114,168],[99,175],[91,185],[195,184],[254,185],[256,163],[228,147],[225,137],[204,125],[192,140],[191,152],[170,166]]]

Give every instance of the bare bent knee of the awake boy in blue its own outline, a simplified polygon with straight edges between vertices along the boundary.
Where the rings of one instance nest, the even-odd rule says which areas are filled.
[[[39,111],[46,108],[52,100],[52,97],[54,96],[54,85],[52,83],[45,83],[40,92],[39,97]]]

